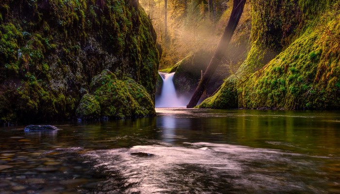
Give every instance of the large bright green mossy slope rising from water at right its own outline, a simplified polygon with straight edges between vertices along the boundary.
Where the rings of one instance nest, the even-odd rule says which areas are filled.
[[[340,25],[334,25],[335,18],[324,25],[339,32]],[[338,20],[339,21],[339,20]],[[329,44],[323,43],[328,39],[327,32],[319,30],[319,27],[310,27],[301,35],[289,48],[278,55],[278,58],[285,58],[285,61],[272,60],[263,69],[263,73],[256,72],[242,86],[246,93],[239,93],[241,99],[239,105],[245,108],[284,108],[284,109],[332,109],[339,107],[339,91],[334,84],[339,77],[339,53],[332,52]],[[334,34],[333,34],[334,35]],[[334,49],[333,49],[334,50]],[[333,53],[327,55],[325,53]],[[294,53],[300,53],[296,60]],[[277,71],[277,65],[284,67],[285,73]],[[265,81],[270,78],[279,78],[275,84]],[[286,83],[283,80],[287,80]],[[280,91],[278,88],[288,88]],[[331,89],[333,88],[333,89]],[[263,92],[260,92],[263,91]],[[327,92],[326,92],[327,91]],[[277,96],[277,97],[275,97]]]

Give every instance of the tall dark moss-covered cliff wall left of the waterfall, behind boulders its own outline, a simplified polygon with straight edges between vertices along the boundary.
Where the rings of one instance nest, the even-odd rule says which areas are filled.
[[[96,103],[80,90],[92,93],[103,69],[152,99],[148,111],[121,115],[153,115],[155,44],[151,21],[130,0],[2,0],[0,123],[97,117]],[[85,104],[94,110],[84,112]]]

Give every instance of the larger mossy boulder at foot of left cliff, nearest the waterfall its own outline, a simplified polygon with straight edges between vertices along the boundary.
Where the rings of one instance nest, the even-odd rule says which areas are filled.
[[[103,70],[91,82],[91,90],[101,106],[101,115],[131,118],[155,115],[154,104],[145,88],[134,80],[118,80],[109,70]]]

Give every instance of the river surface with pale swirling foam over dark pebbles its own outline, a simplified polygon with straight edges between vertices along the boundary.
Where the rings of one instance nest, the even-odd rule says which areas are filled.
[[[0,193],[340,194],[340,112],[156,111],[0,128]]]

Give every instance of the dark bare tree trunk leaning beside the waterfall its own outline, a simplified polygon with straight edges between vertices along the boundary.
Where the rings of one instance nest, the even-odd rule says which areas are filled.
[[[208,67],[206,68],[200,83],[198,84],[194,94],[192,95],[187,108],[193,108],[197,105],[200,100],[206,84],[210,81],[213,76],[217,66],[221,63],[221,59],[224,56],[226,49],[228,48],[231,37],[234,34],[236,26],[238,25],[239,18],[242,15],[244,4],[246,0],[234,0],[233,10],[231,11],[231,16],[229,18],[228,24],[225,27],[224,33],[221,37],[220,43],[215,50],[213,57],[210,60]]]

